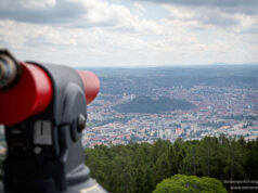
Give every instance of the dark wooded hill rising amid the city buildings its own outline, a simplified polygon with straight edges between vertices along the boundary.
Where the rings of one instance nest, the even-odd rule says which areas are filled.
[[[132,101],[118,104],[114,108],[119,113],[163,113],[176,110],[191,110],[195,105],[185,100],[168,98],[152,99],[150,97],[138,97]]]

